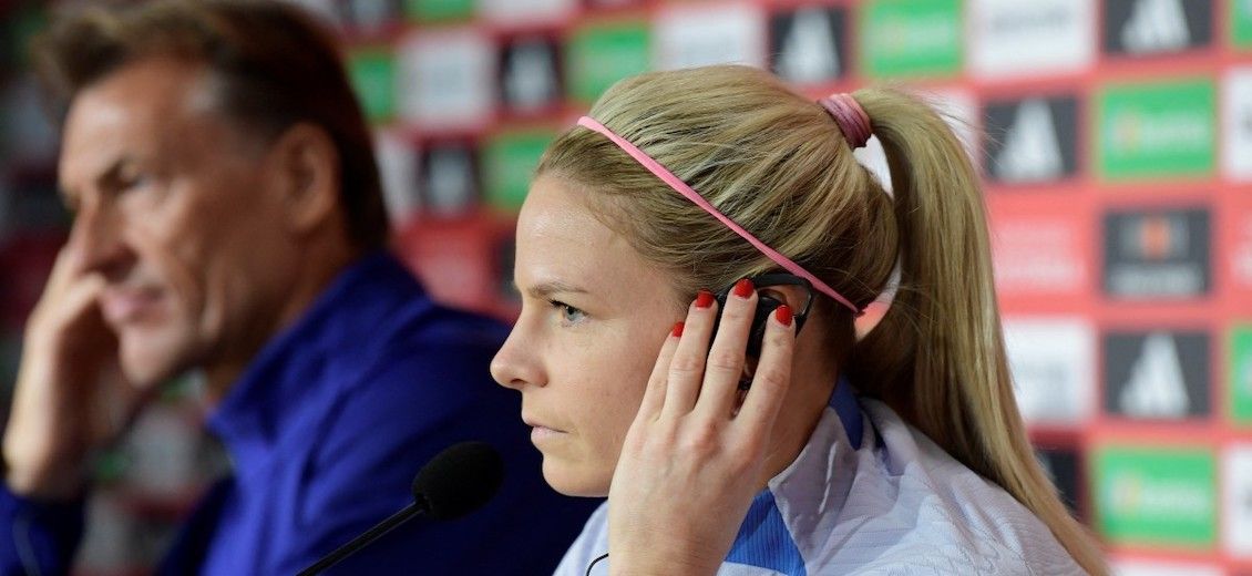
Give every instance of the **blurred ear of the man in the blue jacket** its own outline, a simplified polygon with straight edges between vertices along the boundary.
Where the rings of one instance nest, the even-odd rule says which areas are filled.
[[[339,152],[321,126],[299,123],[270,148],[278,200],[288,228],[307,234],[333,219],[339,209]]]

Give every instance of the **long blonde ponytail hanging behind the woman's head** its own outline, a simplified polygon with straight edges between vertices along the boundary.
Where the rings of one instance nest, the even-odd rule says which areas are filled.
[[[1106,573],[1027,440],[1013,394],[978,177],[929,106],[888,89],[855,93],[883,144],[899,228],[900,287],[853,347],[849,377],[953,457],[1035,513],[1074,560]]]

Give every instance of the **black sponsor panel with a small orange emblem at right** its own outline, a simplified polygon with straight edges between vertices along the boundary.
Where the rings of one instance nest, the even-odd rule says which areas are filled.
[[[1208,294],[1207,209],[1114,212],[1104,215],[1104,292],[1116,298]]]

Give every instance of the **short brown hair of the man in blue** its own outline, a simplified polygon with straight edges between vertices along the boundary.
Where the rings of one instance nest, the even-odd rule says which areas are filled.
[[[272,0],[156,0],[79,8],[33,46],[58,120],[85,88],[146,58],[202,65],[218,111],[272,140],[297,123],[326,130],[339,154],[339,204],[351,242],[384,245],[388,219],[373,140],[334,36],[310,15]]]

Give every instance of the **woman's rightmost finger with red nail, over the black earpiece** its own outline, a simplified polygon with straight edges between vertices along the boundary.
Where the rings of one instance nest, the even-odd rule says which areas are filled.
[[[745,433],[766,435],[777,418],[779,407],[791,386],[791,354],[795,349],[793,324],[791,308],[786,306],[780,306],[770,314],[752,387],[735,418]]]

